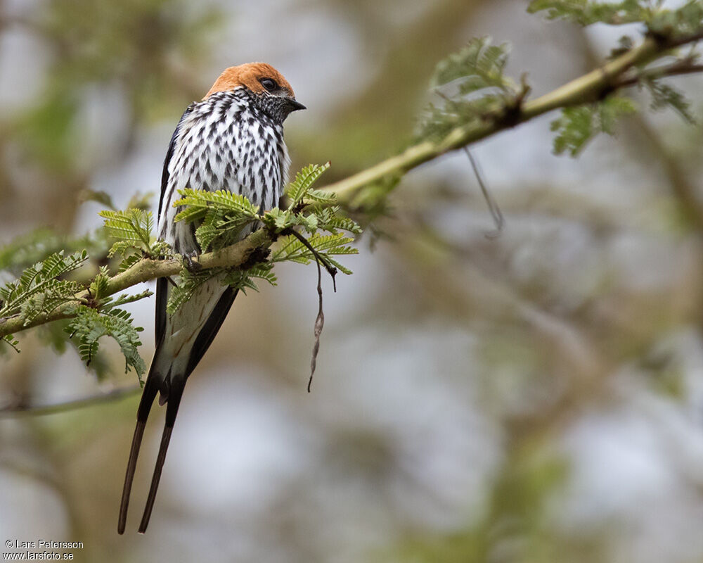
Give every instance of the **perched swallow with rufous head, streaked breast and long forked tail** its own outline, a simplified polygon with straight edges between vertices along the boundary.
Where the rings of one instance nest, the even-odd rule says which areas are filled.
[[[247,63],[226,68],[205,97],[186,108],[176,125],[162,172],[158,237],[186,259],[192,260],[201,251],[193,224],[174,222],[179,189],[226,189],[247,196],[261,210],[277,205],[288,183],[290,166],[283,122],[290,113],[304,109],[288,81],[271,65]],[[248,227],[240,237],[251,230]],[[173,315],[167,315],[171,288],[169,279],[157,279],[156,348],[136,415],[117,523],[120,534],[127,523],[137,457],[154,400],[159,394],[159,405],[166,405],[166,422],[139,533],[146,532],[149,524],[186,381],[237,295],[216,277],[199,286]]]

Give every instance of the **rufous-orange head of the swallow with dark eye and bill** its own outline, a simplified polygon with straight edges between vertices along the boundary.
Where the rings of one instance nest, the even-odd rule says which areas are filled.
[[[217,92],[237,88],[245,88],[255,94],[254,99],[258,99],[266,109],[273,110],[281,121],[292,111],[305,109],[302,103],[296,101],[288,80],[266,63],[246,63],[226,68],[203,100]]]

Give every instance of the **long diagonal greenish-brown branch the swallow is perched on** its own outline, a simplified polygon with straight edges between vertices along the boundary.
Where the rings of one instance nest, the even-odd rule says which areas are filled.
[[[384,160],[375,166],[347,179],[329,184],[322,189],[337,194],[342,201],[349,201],[360,189],[370,184],[381,182],[388,177],[402,175],[444,153],[463,148],[475,141],[520,125],[552,110],[593,103],[613,91],[636,85],[640,79],[648,75],[640,75],[639,79],[637,75],[635,77],[628,76],[628,71],[633,67],[650,63],[657,58],[666,56],[671,49],[685,44],[692,44],[701,39],[703,39],[703,30],[685,37],[655,37],[650,34],[645,37],[639,46],[548,94],[544,94],[532,101],[524,101],[529,89],[523,87],[522,92],[515,96],[512,105],[506,105],[501,112],[486,116],[486,119],[479,125],[472,122],[469,125],[456,127],[439,141],[423,141],[411,146],[398,156]],[[667,76],[689,74],[699,70],[697,66],[692,68],[690,65],[679,65],[678,67],[671,65],[666,69],[665,74]],[[652,72],[658,71],[654,70]],[[193,261],[197,262],[203,269],[242,266],[245,265],[254,251],[269,248],[275,239],[276,236],[268,230],[259,229],[247,236],[243,241],[228,246],[221,251],[202,254]],[[181,267],[181,260],[175,258],[168,260],[144,258],[125,272],[112,277],[103,296],[124,291],[143,281],[174,276],[181,271]],[[87,291],[83,291],[76,295],[76,301],[82,302],[88,297]],[[75,305],[68,304],[63,305],[49,315],[39,315],[27,324],[24,324],[20,317],[3,319],[0,320],[0,338],[36,327],[39,324],[70,318],[74,314]]]

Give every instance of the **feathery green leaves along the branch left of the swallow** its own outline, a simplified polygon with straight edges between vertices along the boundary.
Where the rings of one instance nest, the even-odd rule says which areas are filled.
[[[96,199],[105,205],[112,205],[108,199]],[[143,199],[143,198],[142,198]],[[104,201],[103,201],[104,200]],[[138,374],[143,373],[143,360],[138,358],[136,347],[138,338],[135,334],[142,329],[131,325],[131,316],[118,305],[138,301],[148,297],[151,291],[136,294],[123,294],[120,297],[108,296],[110,271],[107,266],[98,268],[91,280],[82,281],[78,272],[89,262],[87,248],[93,248],[98,260],[122,253],[125,258],[120,263],[120,270],[141,258],[143,255],[156,255],[167,248],[164,243],[153,241],[151,229],[153,218],[146,212],[143,201],[135,200],[138,207],[127,211],[107,210],[101,212],[105,217],[105,225],[93,234],[79,239],[67,239],[58,236],[50,229],[37,229],[30,234],[18,237],[4,248],[0,249],[0,269],[6,273],[18,269],[18,277],[6,286],[0,288],[0,317],[20,317],[25,326],[40,315],[51,315],[60,308],[66,308],[67,315],[77,315],[68,324],[63,324],[70,334],[76,334],[72,340],[83,360],[90,358],[91,369],[101,371],[104,362],[98,362],[97,340],[101,336],[115,338],[124,354],[128,367],[134,367]],[[108,239],[115,241],[108,253]],[[61,246],[80,248],[81,251],[66,255],[65,251],[53,251]],[[41,260],[28,265],[27,261],[39,257]],[[93,260],[94,261],[94,260]],[[88,268],[89,269],[89,268]],[[91,311],[90,313],[87,311]],[[79,318],[80,321],[76,319]],[[95,320],[92,330],[88,323]],[[79,324],[75,324],[75,323]],[[57,331],[41,331],[42,338],[50,343],[58,352],[65,350],[65,333],[63,343],[58,339]],[[18,341],[12,335],[4,337],[4,342],[18,349]]]

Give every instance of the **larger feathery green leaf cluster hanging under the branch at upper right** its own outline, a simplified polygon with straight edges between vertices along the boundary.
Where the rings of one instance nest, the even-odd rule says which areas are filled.
[[[596,134],[615,134],[617,121],[636,111],[637,106],[631,99],[617,95],[608,96],[598,103],[563,109],[551,125],[552,131],[557,132],[555,154],[567,152],[571,156],[578,155]]]

